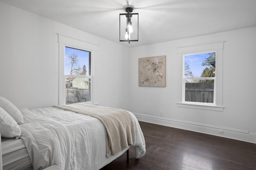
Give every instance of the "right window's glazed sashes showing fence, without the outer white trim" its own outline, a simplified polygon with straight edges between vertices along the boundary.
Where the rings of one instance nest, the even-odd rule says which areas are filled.
[[[216,53],[184,55],[184,103],[215,104]]]

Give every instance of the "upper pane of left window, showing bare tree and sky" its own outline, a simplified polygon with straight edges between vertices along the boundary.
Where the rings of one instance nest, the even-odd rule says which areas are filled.
[[[65,75],[91,75],[91,52],[65,47]]]

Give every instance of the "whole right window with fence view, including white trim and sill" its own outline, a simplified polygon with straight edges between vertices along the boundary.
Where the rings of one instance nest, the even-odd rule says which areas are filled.
[[[224,42],[178,48],[177,106],[222,111]]]

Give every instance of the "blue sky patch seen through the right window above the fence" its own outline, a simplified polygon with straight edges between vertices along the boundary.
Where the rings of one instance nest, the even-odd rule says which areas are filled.
[[[185,55],[185,62],[189,64],[190,71],[192,71],[194,77],[201,76],[204,68],[206,68],[206,66],[202,66],[201,64],[208,57],[208,53]]]

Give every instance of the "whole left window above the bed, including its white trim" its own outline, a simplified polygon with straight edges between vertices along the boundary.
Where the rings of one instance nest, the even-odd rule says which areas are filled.
[[[94,85],[96,81],[94,81],[95,78],[93,78],[92,68],[94,68],[93,61],[94,57],[97,56],[99,45],[66,35],[57,35],[59,43],[58,104],[62,105],[75,102],[97,104],[95,103],[97,86]],[[78,56],[78,62],[76,64],[73,63],[74,67],[71,69],[72,63],[70,63],[70,60],[66,60],[70,59],[66,55],[72,55],[72,53]],[[72,92],[74,92],[74,94]]]

